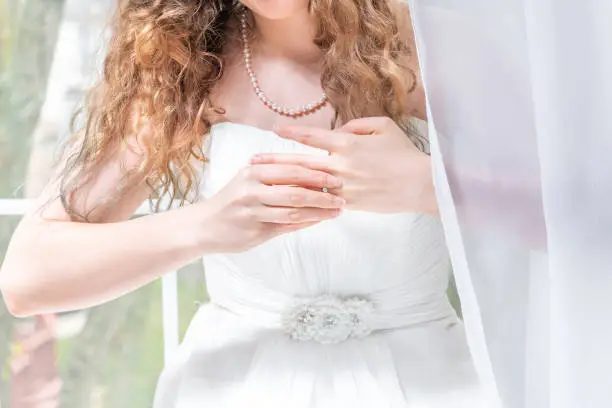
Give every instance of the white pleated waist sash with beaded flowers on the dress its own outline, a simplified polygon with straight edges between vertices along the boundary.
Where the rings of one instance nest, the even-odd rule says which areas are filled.
[[[245,296],[238,296],[243,293]],[[293,340],[323,344],[361,339],[382,330],[457,319],[444,292],[416,296],[411,293],[414,290],[394,288],[368,295],[293,297],[251,287],[234,293],[211,291],[211,303],[244,317],[251,324],[281,330]]]

